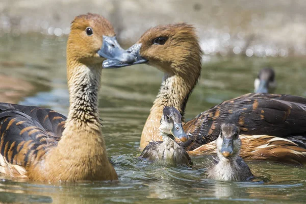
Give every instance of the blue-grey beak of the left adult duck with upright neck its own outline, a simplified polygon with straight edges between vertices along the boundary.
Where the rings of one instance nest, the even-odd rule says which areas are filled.
[[[126,64],[135,62],[135,57],[121,48],[115,36],[103,36],[103,44],[97,53],[100,57],[124,62]]]

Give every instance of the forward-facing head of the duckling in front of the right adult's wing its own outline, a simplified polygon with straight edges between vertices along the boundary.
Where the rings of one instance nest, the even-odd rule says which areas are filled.
[[[230,159],[239,156],[241,141],[239,127],[232,123],[222,123],[221,132],[216,140],[217,154]]]

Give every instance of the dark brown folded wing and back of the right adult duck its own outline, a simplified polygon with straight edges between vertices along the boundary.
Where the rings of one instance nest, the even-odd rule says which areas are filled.
[[[200,113],[184,124],[192,150],[215,140],[222,122],[235,123],[241,134],[289,137],[306,134],[306,98],[292,95],[245,94]]]

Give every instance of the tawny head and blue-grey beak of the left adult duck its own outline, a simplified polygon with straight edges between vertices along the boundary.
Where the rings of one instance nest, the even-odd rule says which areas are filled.
[[[71,23],[67,42],[67,61],[92,65],[105,59],[133,63],[134,56],[118,44],[112,24],[104,17],[88,13],[79,15]]]

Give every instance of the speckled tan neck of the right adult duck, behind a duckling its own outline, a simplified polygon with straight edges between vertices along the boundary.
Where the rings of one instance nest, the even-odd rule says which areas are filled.
[[[180,70],[180,68],[175,69]],[[140,140],[141,149],[150,140],[160,141],[162,139],[159,135],[159,125],[165,106],[175,107],[180,111],[184,120],[186,103],[200,77],[201,66],[199,63],[197,67],[184,67],[184,69],[190,71],[188,73],[178,72],[164,75],[157,98],[143,127]]]

